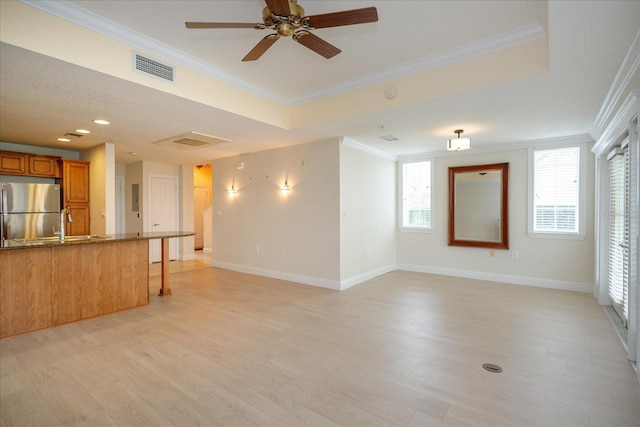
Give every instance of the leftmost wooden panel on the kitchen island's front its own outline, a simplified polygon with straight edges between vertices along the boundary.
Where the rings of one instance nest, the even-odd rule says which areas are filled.
[[[0,337],[51,326],[51,249],[0,256]]]

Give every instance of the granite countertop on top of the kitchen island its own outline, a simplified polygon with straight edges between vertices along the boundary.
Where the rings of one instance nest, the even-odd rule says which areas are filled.
[[[154,231],[148,233],[105,234],[89,236],[67,236],[64,242],[57,237],[44,237],[36,239],[8,239],[0,242],[0,250],[6,249],[33,249],[51,246],[86,245],[96,243],[126,242],[131,240],[166,239],[172,237],[193,236],[191,231]]]

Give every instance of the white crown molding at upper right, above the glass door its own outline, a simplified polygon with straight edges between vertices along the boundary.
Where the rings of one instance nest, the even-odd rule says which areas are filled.
[[[625,96],[627,96],[625,102],[628,102],[628,90],[630,89],[630,83],[636,74],[638,74],[639,70],[640,30],[631,43],[627,55],[622,61],[622,65],[620,65],[620,69],[611,84],[611,88],[609,89],[593,124],[591,134],[595,136],[598,142],[600,142],[605,133],[607,133],[610,123],[615,121],[614,114],[617,115],[615,111],[616,105],[618,105]]]

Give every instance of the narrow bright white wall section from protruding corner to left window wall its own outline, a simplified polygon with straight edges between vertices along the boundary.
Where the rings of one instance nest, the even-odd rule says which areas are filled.
[[[341,144],[341,289],[395,270],[395,228],[395,161]]]

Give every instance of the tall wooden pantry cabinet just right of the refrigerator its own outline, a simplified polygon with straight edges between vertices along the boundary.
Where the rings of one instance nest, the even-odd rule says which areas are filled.
[[[71,211],[71,222],[66,220],[65,231],[69,236],[91,234],[89,203],[89,166],[83,160],[61,160],[62,204]]]

